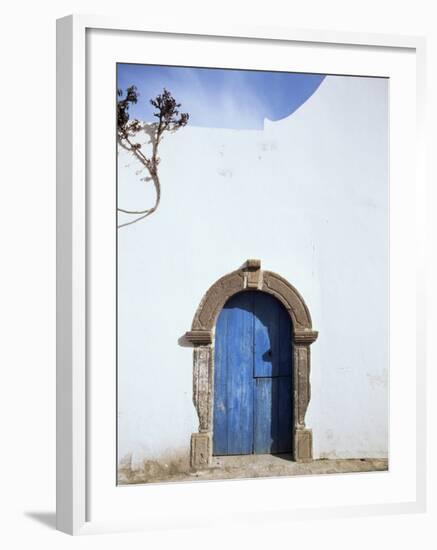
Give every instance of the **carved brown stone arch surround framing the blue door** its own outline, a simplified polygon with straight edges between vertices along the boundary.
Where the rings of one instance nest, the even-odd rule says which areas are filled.
[[[297,461],[312,459],[312,432],[305,426],[305,413],[311,397],[310,345],[318,333],[299,292],[283,277],[261,269],[260,260],[247,260],[236,271],[216,281],[206,292],[185,338],[194,346],[193,402],[199,417],[199,431],[191,436],[191,465],[205,468],[212,458],[212,403],[214,380],[214,327],[227,300],[244,290],[272,294],[286,308],[293,325],[293,455]]]

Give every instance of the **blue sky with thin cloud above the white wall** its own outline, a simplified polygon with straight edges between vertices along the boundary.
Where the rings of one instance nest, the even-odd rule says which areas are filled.
[[[262,129],[280,120],[317,90],[324,75],[154,65],[117,65],[117,87],[135,84],[140,94],[131,118],[152,121],[149,99],[167,88],[190,114],[189,124],[208,128]]]

